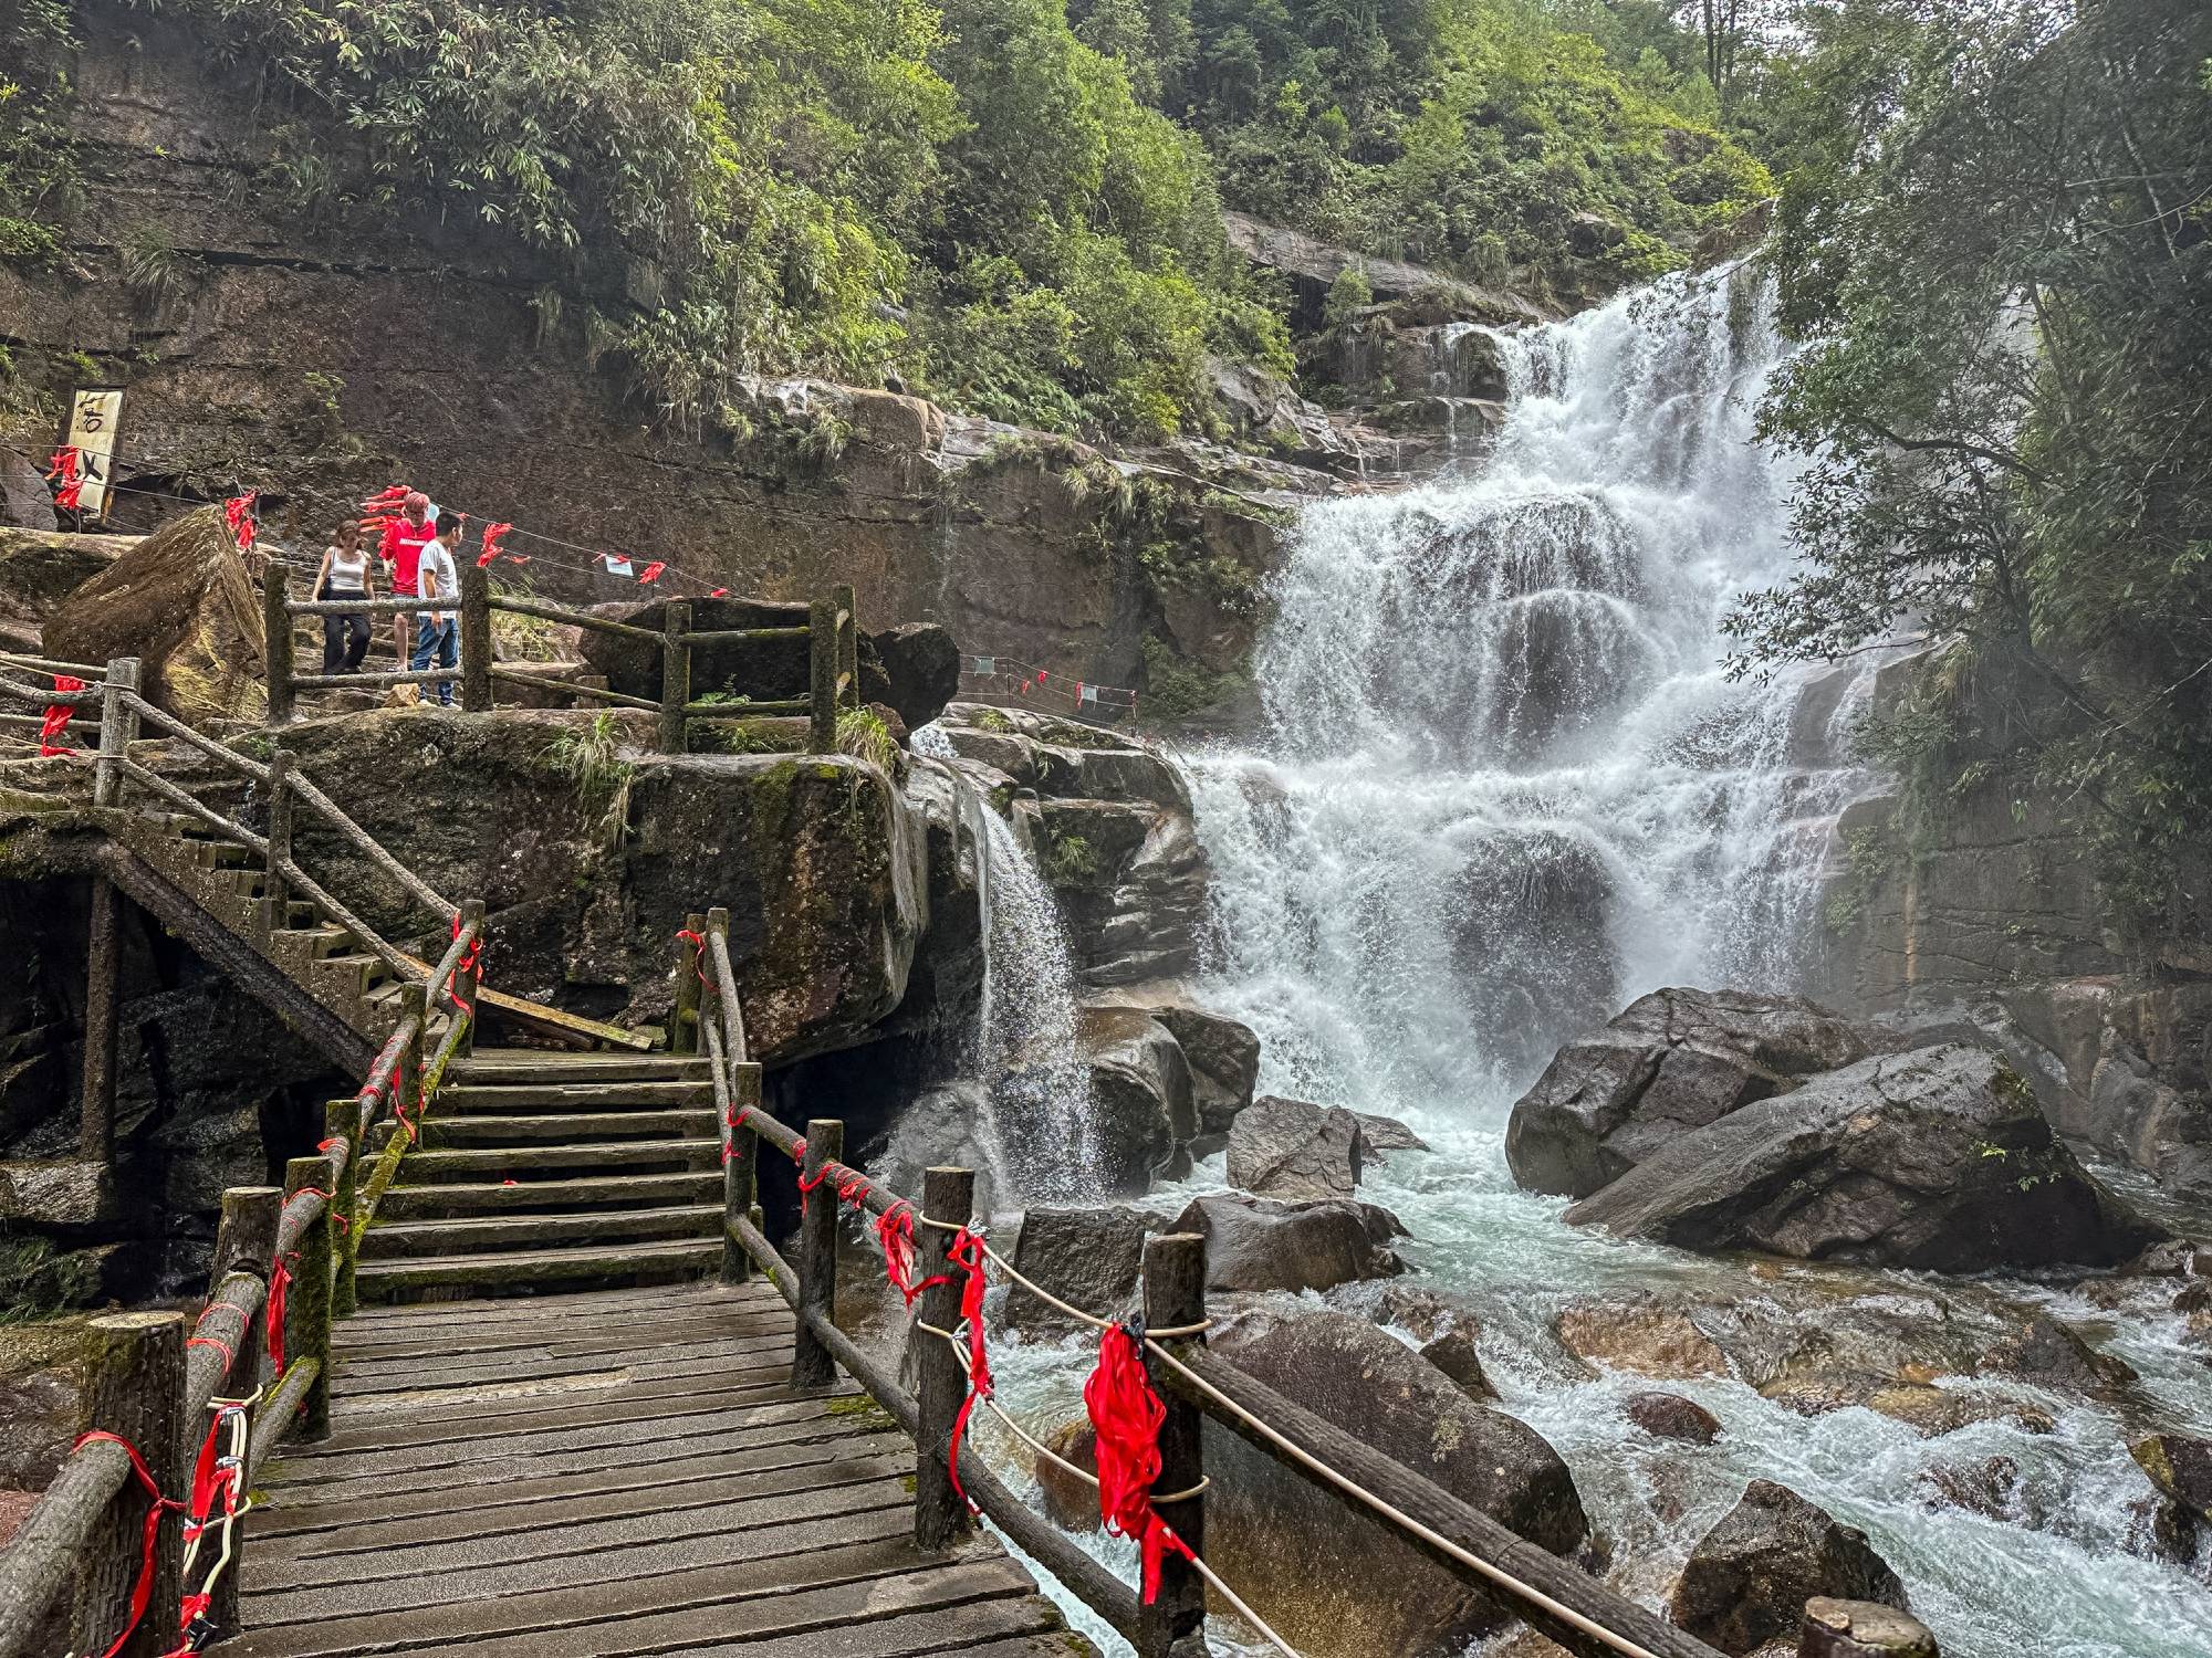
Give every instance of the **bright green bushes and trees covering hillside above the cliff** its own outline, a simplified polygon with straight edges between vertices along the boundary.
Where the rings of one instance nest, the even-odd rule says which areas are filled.
[[[73,44],[11,9],[0,256],[82,206]],[[664,416],[732,376],[900,382],[1082,433],[1217,429],[1206,360],[1290,371],[1221,203],[1544,287],[1668,267],[1767,190],[1694,42],[1595,0],[170,0],[241,102],[268,201],[363,228],[473,219],[619,256],[657,301],[580,329]],[[128,18],[128,11],[124,13]],[[1577,245],[1577,214],[1586,214]],[[1606,225],[1597,243],[1588,225]]]

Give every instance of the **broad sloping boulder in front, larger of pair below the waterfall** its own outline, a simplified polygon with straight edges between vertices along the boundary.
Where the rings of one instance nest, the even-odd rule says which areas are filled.
[[[1951,1273],[2112,1265],[2157,1236],[2057,1143],[2020,1072],[1964,1043],[1863,1059],[1677,1132],[1566,1218]]]

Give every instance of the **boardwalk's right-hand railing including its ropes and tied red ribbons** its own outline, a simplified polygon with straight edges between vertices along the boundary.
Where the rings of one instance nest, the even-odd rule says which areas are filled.
[[[701,986],[703,997],[734,1008],[737,984],[728,970],[726,944],[717,948],[726,935],[728,917],[714,911],[703,917],[703,924],[697,924],[701,917],[692,917],[692,922],[695,926],[686,928],[684,937],[697,942],[697,948],[679,957],[679,986],[690,977]],[[703,970],[701,962],[710,962],[712,973]],[[971,1214],[973,1176],[969,1172],[931,1169],[925,1178],[920,1209],[907,1198],[883,1192],[869,1176],[841,1158],[841,1123],[816,1121],[807,1134],[799,1134],[757,1103],[732,1105],[741,1094],[732,1079],[754,1068],[732,1059],[741,1050],[726,1041],[717,1017],[703,1017],[699,1026],[706,1032],[703,1048],[717,1070],[723,1163],[726,1167],[743,1165],[748,1176],[741,1185],[728,1183],[726,1236],[734,1249],[743,1249],[750,1265],[776,1287],[799,1315],[794,1384],[821,1384],[827,1379],[825,1364],[834,1357],[916,1439],[916,1525],[925,1541],[931,1528],[938,1532],[958,1530],[958,1523],[964,1523],[969,1514],[987,1517],[1053,1576],[1060,1576],[1084,1605],[1130,1638],[1141,1658],[1159,1658],[1175,1640],[1190,1636],[1192,1627],[1203,1620],[1206,1589],[1217,1594],[1276,1651],[1296,1658],[1296,1649],[1237,1594],[1234,1585],[1206,1563],[1203,1550],[1181,1550],[1175,1541],[1175,1528],[1152,1514],[1155,1508],[1194,1514],[1203,1503],[1208,1481],[1199,1463],[1194,1428],[1197,1417],[1203,1415],[1223,1421],[1305,1479],[1332,1488],[1449,1570],[1478,1578],[1533,1629],[1568,1651],[1586,1658],[1719,1658],[1705,1643],[1528,1543],[1433,1481],[1363,1446],[1225,1357],[1210,1353],[1203,1344],[1203,1335],[1212,1326],[1206,1315],[1203,1238],[1172,1236],[1146,1242],[1144,1322],[1135,1329],[1075,1307],[1024,1276],[989,1245],[982,1225]],[[728,1079],[721,1074],[726,1070]],[[752,1092],[750,1099],[757,1101],[759,1092]],[[761,1225],[761,1214],[754,1207],[752,1169],[757,1163],[745,1154],[748,1138],[772,1147],[799,1167],[801,1229],[794,1258],[779,1251]],[[836,1225],[845,1209],[874,1216],[891,1287],[909,1304],[916,1298],[922,1302],[914,1324],[927,1337],[918,1397],[883,1377],[876,1364],[858,1353],[830,1320]],[[949,1236],[951,1242],[916,1245],[916,1227],[933,1240]],[[929,1262],[929,1278],[920,1284],[916,1284],[916,1256]],[[1046,1307],[1097,1329],[1102,1333],[1102,1373],[1108,1344],[1115,1340],[1141,1342],[1141,1366],[1150,1371],[1152,1397],[1164,1424],[1155,1444],[1168,1446],[1172,1441],[1177,1455],[1157,1468],[1135,1510],[1119,1510],[1121,1499],[1106,1490],[1104,1450],[1099,1452],[1102,1472],[1091,1472],[1042,1444],[993,1397],[989,1368],[980,1362],[984,1351],[980,1291],[987,1271],[998,1282],[1020,1284]],[[936,1388],[931,1388],[931,1368],[938,1377]],[[1091,1388],[1086,1388],[1088,1399]],[[1051,1528],[1011,1490],[989,1477],[989,1470],[975,1461],[975,1452],[960,1444],[964,1424],[978,1406],[1042,1463],[1099,1490],[1102,1508],[1117,1508],[1130,1525],[1159,1525],[1166,1532],[1164,1545],[1146,1541],[1144,1596],[1119,1578],[1102,1574],[1088,1554],[1071,1547],[1057,1528]],[[1177,1421],[1179,1415],[1181,1421]],[[1104,1439],[1108,1424],[1099,1421],[1095,1408],[1093,1426],[1102,1430]],[[933,1490],[933,1483],[942,1488]],[[1203,1525],[1194,1521],[1186,1521],[1186,1525],[1194,1536],[1203,1534]],[[1133,1534],[1113,1523],[1108,1530]],[[938,1536],[938,1543],[942,1541]],[[1082,1565],[1066,1561],[1066,1554],[1075,1554]],[[1062,1563],[1066,1563],[1066,1572],[1060,1570]]]

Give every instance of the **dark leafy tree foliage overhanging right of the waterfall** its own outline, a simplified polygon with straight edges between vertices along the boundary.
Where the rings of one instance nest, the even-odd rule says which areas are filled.
[[[1743,668],[1960,637],[1993,714],[1905,758],[2002,738],[2152,948],[2212,811],[2208,57],[2194,0],[1814,13],[1763,411],[1807,564],[1732,623]]]

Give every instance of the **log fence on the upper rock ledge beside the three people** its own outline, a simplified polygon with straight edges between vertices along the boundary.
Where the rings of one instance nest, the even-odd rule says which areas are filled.
[[[593,615],[571,606],[549,604],[491,590],[489,575],[476,564],[460,568],[460,595],[449,601],[460,626],[456,668],[392,668],[352,674],[303,674],[292,657],[294,617],[414,617],[431,606],[422,599],[294,599],[292,573],[281,559],[272,559],[261,588],[263,632],[268,634],[268,707],[270,725],[285,725],[299,710],[303,690],[338,690],[369,685],[453,685],[460,683],[460,707],[471,714],[489,712],[498,705],[498,685],[520,685],[540,694],[575,696],[586,703],[611,707],[637,707],[657,714],[657,747],[664,754],[681,754],[688,747],[692,721],[776,721],[805,718],[803,745],[814,754],[830,754],[836,747],[836,721],[845,710],[860,705],[860,630],[854,590],[838,586],[830,597],[816,599],[803,628],[692,628],[690,599],[668,599],[661,608],[661,626],[639,628],[628,621]],[[661,652],[661,696],[630,696],[628,692],[602,685],[580,685],[571,679],[538,674],[520,663],[493,661],[491,617],[507,612],[555,621],[586,632],[628,639]],[[719,696],[692,696],[692,654],[710,646],[763,643],[790,639],[807,641],[807,694],[785,701],[728,701]]]

